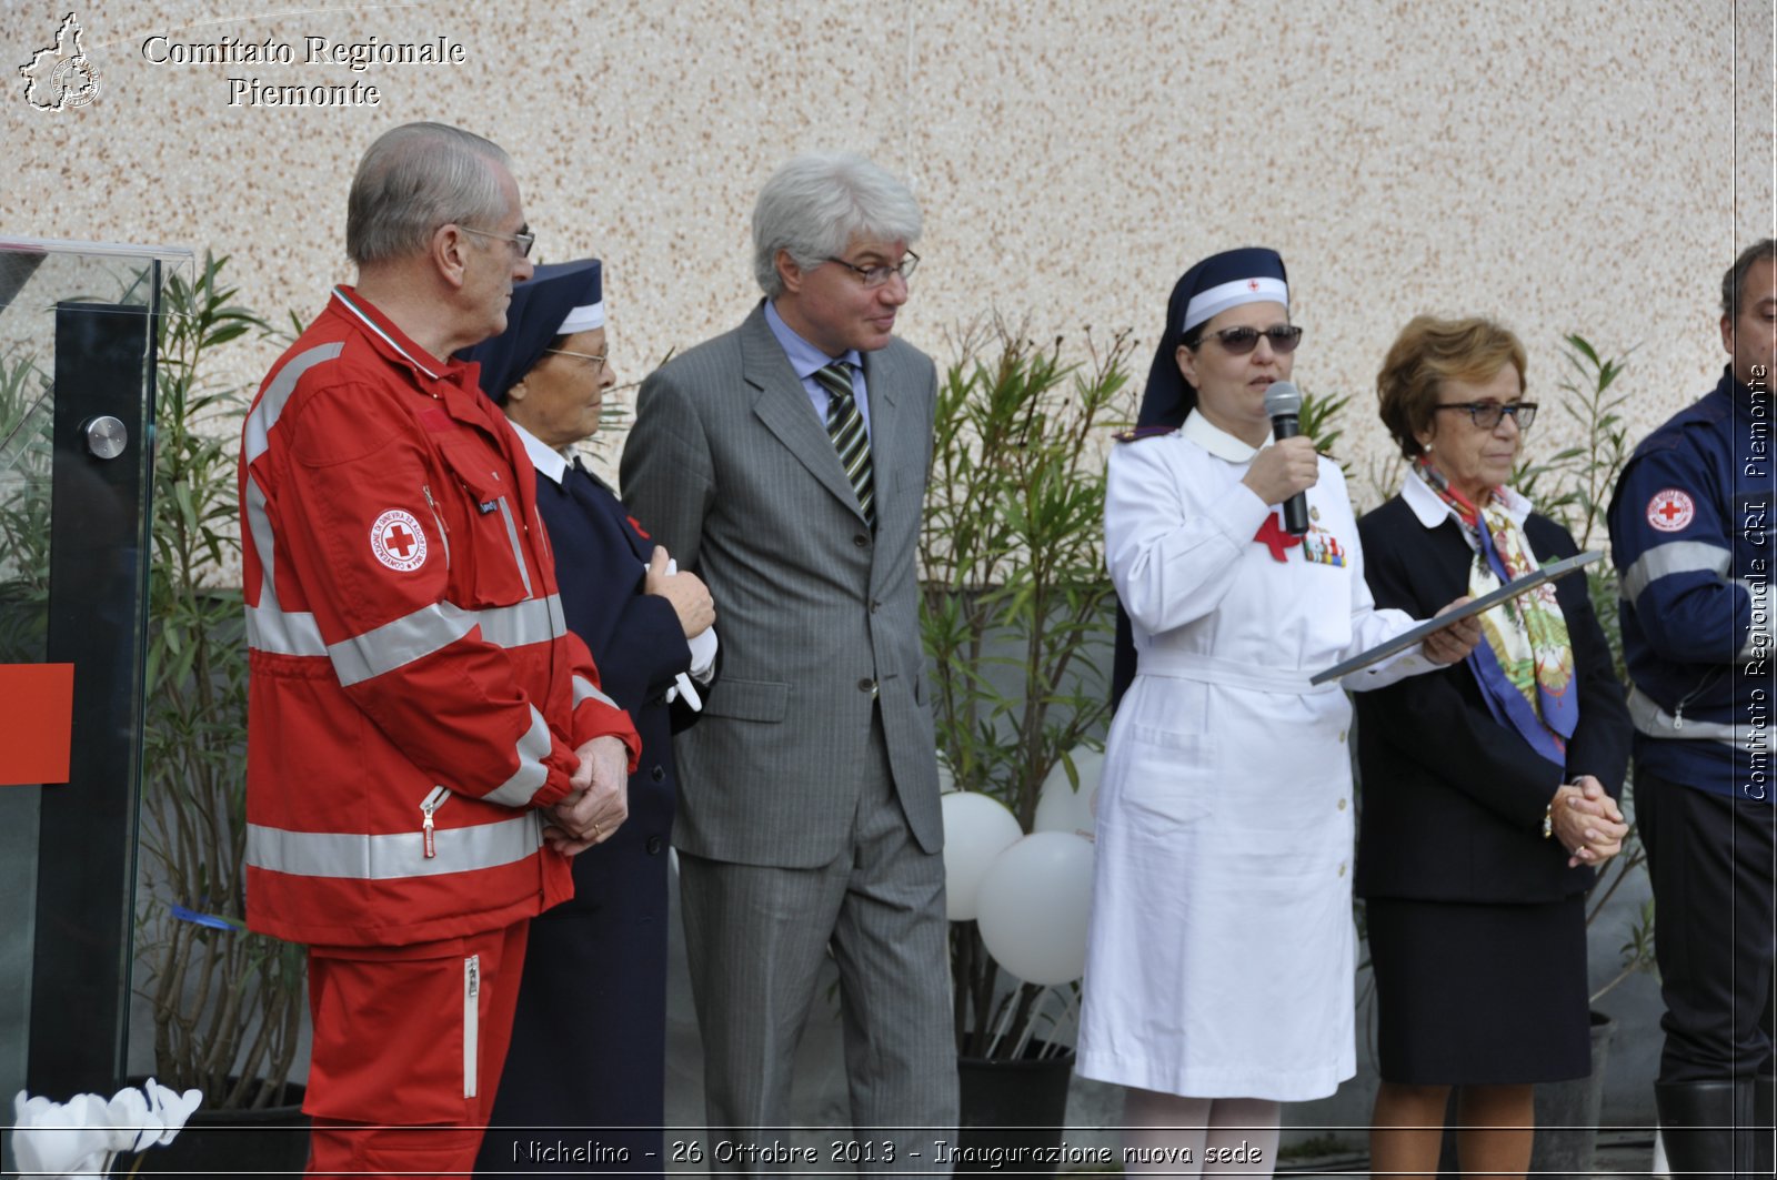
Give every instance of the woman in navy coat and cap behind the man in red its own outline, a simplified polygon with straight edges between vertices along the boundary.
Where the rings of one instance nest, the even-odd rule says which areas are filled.
[[[531,922],[478,1169],[659,1173],[672,730],[695,718],[713,675],[714,608],[704,583],[675,572],[617,494],[565,453],[599,428],[617,382],[599,263],[538,267],[514,286],[506,331],[464,357],[482,363],[482,389],[537,469],[567,626],[641,734],[629,817],[574,858],[574,899]]]

